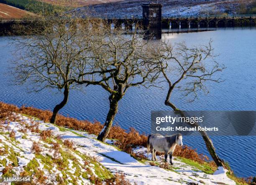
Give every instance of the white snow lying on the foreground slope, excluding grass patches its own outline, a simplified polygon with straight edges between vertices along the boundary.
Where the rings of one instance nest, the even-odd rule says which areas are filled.
[[[53,168],[47,169],[47,165],[43,163],[43,159],[38,158],[38,155],[35,155],[31,152],[31,147],[33,141],[40,143],[42,147],[42,156],[51,156],[54,157],[54,150],[50,149],[51,144],[46,141],[42,141],[37,133],[27,131],[26,133],[21,132],[24,125],[34,124],[33,122],[38,122],[38,128],[40,130],[51,130],[55,136],[61,136],[61,140],[69,139],[76,144],[76,150],[71,151],[72,155],[76,160],[68,160],[68,167],[65,168],[67,173],[67,178],[71,181],[74,180],[74,175],[79,169],[80,171],[85,171],[83,169],[83,158],[82,156],[90,156],[91,158],[97,158],[97,161],[100,162],[105,168],[107,168],[111,173],[123,173],[125,178],[128,179],[132,184],[135,182],[138,185],[180,185],[180,184],[189,184],[190,182],[198,184],[228,184],[235,185],[236,183],[233,180],[230,180],[225,174],[226,170],[219,168],[214,175],[205,174],[196,167],[192,167],[182,162],[177,157],[174,157],[173,170],[165,170],[157,166],[151,166],[150,161],[139,162],[135,160],[131,155],[118,150],[116,147],[112,146],[113,141],[107,140],[110,144],[105,144],[96,140],[96,136],[92,134],[87,134],[86,132],[75,131],[66,129],[63,127],[58,127],[53,124],[44,123],[43,121],[33,120],[28,117],[20,116],[20,122],[10,122],[9,124],[4,124],[2,130],[0,130],[0,147],[4,148],[8,145],[9,150],[12,149],[14,152],[19,153],[17,156],[18,166],[13,167],[13,170],[17,174],[23,172],[24,168],[31,162],[35,160],[39,163],[39,169],[44,171],[46,177],[51,177],[54,184],[57,184],[54,181],[56,177],[62,177],[63,173],[57,169],[54,165]],[[15,132],[15,139],[11,140],[8,133]],[[54,139],[52,139],[54,140]],[[57,142],[57,141],[56,141]],[[61,145],[62,147],[62,145]],[[63,149],[64,150],[64,149]],[[137,147],[134,149],[134,152],[144,152],[146,154],[145,147]],[[6,160],[6,164],[12,163],[10,161],[10,154],[0,155],[0,160]],[[40,156],[41,156],[40,155]],[[151,158],[151,155],[148,156]],[[158,156],[159,162],[161,162],[161,157]],[[1,163],[0,163],[1,164]],[[90,168],[94,172],[93,164],[88,164],[87,168]],[[0,171],[4,169],[3,163],[0,165]],[[102,168],[102,167],[101,167]],[[28,169],[28,167],[26,168]],[[103,169],[103,168],[102,168]],[[52,175],[54,174],[54,175]],[[3,172],[0,172],[0,177],[3,175]],[[72,177],[73,175],[73,177]],[[97,173],[94,173],[95,176]],[[80,175],[79,179],[76,179],[78,184],[90,184],[90,180],[85,179]]]

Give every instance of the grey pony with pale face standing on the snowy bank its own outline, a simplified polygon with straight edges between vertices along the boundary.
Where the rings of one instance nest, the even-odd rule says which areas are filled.
[[[147,147],[148,147],[148,152],[149,149],[151,150],[152,153],[152,160],[154,161],[156,159],[156,152],[164,152],[164,161],[167,161],[167,156],[169,153],[170,157],[170,163],[172,163],[172,154],[175,150],[175,147],[177,146],[182,146],[182,134],[174,134],[171,136],[162,136],[161,134],[149,134],[148,135],[148,142],[147,142]]]

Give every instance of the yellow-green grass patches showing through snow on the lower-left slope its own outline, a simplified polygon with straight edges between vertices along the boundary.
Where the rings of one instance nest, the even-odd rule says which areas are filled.
[[[30,117],[25,114],[23,114],[23,116],[35,119],[34,117]],[[62,132],[70,131],[80,137],[84,137],[82,134],[79,134],[73,130],[66,129],[64,127],[59,127],[57,125],[55,126],[58,127],[59,130]],[[6,157],[8,160],[12,162],[13,167],[18,166],[17,156],[20,156],[20,155],[19,153],[15,152],[15,150],[13,149],[13,147],[19,148],[18,142],[16,142],[15,139],[11,139],[10,137],[8,137],[9,133],[4,132],[2,134],[8,140],[8,142],[10,142],[10,146],[7,144],[4,144],[5,151],[7,151],[6,154],[8,154],[8,156]],[[24,134],[22,138],[28,139],[28,136]],[[61,155],[61,157],[54,158],[48,154],[46,155],[35,154],[35,158],[33,158],[33,160],[31,160],[28,163],[28,165],[23,167],[29,176],[35,175],[36,170],[38,169],[39,163],[40,163],[41,165],[44,166],[44,169],[47,170],[49,173],[53,173],[54,166],[56,166],[56,168],[61,171],[63,176],[62,177],[58,175],[56,176],[56,181],[60,182],[60,184],[69,184],[69,182],[71,182],[72,184],[77,185],[77,181],[82,180],[81,176],[84,177],[85,179],[89,179],[89,177],[95,174],[97,178],[100,178],[101,180],[113,178],[113,175],[111,174],[111,172],[108,169],[106,169],[104,166],[102,166],[99,162],[97,162],[97,160],[95,160],[90,156],[84,155],[77,150],[68,149],[66,146],[64,146],[62,140],[56,139],[55,137],[47,137],[47,139],[44,140],[44,142],[51,144],[55,140],[58,144],[61,145],[61,148],[59,149],[59,154]],[[44,146],[49,148],[49,146],[47,146],[46,144],[44,144]],[[85,166],[84,164],[80,163],[76,157],[77,155],[82,158],[82,161],[87,161],[89,165]],[[7,159],[1,160],[0,162],[1,167],[6,166]],[[72,174],[69,171],[71,170],[69,168],[69,165],[70,165],[69,160],[72,161],[72,168],[74,169],[74,174]],[[86,168],[86,171],[82,172],[82,169],[84,168]],[[12,177],[12,176],[13,176],[12,170],[7,172],[5,175],[2,175],[2,177]],[[70,177],[71,180],[67,180],[67,177]],[[93,180],[92,180],[92,183],[93,183]]]

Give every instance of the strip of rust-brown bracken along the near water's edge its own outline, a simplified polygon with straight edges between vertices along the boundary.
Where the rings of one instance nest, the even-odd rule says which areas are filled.
[[[43,120],[45,122],[49,122],[49,119],[51,117],[51,111],[49,110],[41,110],[41,109],[37,109],[33,107],[25,107],[25,106],[21,106],[20,108],[18,108],[13,104],[7,104],[0,101],[0,109],[3,106],[7,106],[8,109],[12,110],[13,112],[20,113],[30,118],[36,117],[36,119]],[[97,135],[103,127],[103,125],[100,124],[100,122],[91,123],[86,120],[78,120],[76,118],[64,117],[62,115],[58,115],[57,120],[59,122],[57,121],[56,124],[60,127],[65,127],[65,128],[74,129],[74,130],[84,130],[84,131],[87,131],[89,134],[95,134],[95,135]],[[118,134],[115,134],[116,132],[118,132]],[[125,144],[122,143],[122,142],[127,142],[126,140],[124,140],[127,137],[133,138],[133,140],[132,141],[130,140],[128,141],[128,143],[125,143]],[[137,155],[136,153],[133,153],[133,150],[131,150],[131,147],[128,145],[132,144],[133,147],[136,147],[136,146],[146,147],[146,139],[147,139],[146,135],[139,134],[138,131],[136,131],[136,129],[131,129],[130,132],[127,132],[127,130],[122,129],[119,126],[113,126],[113,129],[110,132],[110,137],[108,138],[119,140],[120,142],[118,143],[118,147],[120,148],[120,150],[131,154],[136,159],[139,159],[141,157],[141,154]],[[189,155],[186,155],[183,152],[183,150],[188,152],[190,157]],[[194,160],[196,162],[208,161],[206,156],[202,154],[198,154],[196,150],[190,147],[185,147],[184,149],[178,148],[178,150],[174,152],[174,155],[181,156],[181,157],[186,156],[186,158]]]

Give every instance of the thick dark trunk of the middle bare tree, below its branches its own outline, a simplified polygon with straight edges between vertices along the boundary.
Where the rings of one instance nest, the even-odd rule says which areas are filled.
[[[108,111],[107,119],[105,121],[104,127],[102,128],[100,134],[98,135],[97,139],[104,142],[107,138],[110,128],[113,124],[113,120],[115,118],[116,113],[118,112],[118,101],[120,98],[117,98],[115,95],[111,94],[109,96],[110,101],[110,109]]]

